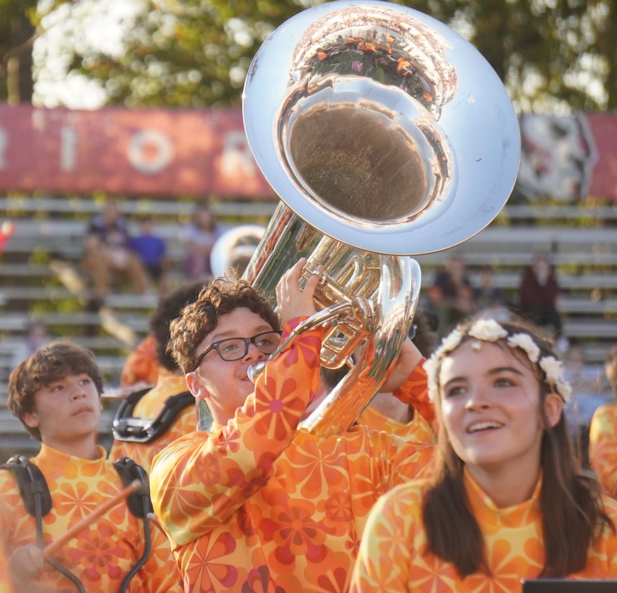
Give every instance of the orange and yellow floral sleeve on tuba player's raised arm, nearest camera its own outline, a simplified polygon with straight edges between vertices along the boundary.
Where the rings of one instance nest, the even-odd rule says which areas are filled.
[[[322,338],[321,328],[294,338],[225,427],[186,435],[154,458],[152,504],[176,544],[220,525],[268,481],[319,389]]]

